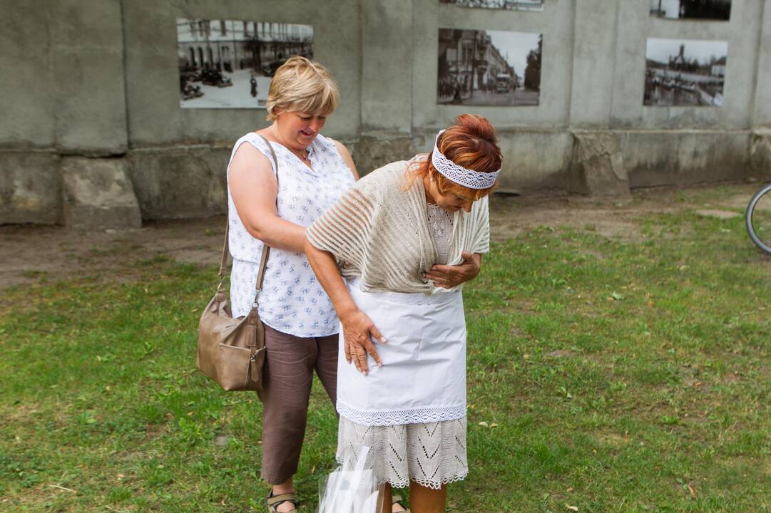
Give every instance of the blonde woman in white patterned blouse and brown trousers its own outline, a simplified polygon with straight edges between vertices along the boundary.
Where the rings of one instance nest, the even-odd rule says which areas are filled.
[[[263,244],[271,246],[259,294],[267,348],[261,476],[272,485],[271,512],[298,508],[292,478],[314,371],[333,405],[336,398],[338,318],[304,244],[305,228],[359,179],[345,146],[320,133],[337,104],[324,66],[291,57],[271,80],[271,126],[238,139],[227,169],[234,317],[251,309]]]

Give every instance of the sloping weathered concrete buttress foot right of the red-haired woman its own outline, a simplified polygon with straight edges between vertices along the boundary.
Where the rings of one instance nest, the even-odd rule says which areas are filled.
[[[591,196],[628,196],[621,142],[609,132],[574,132],[571,190]]]

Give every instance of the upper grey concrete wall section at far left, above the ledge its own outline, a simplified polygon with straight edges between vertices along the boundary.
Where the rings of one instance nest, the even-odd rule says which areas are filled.
[[[126,150],[119,0],[0,0],[0,146]]]

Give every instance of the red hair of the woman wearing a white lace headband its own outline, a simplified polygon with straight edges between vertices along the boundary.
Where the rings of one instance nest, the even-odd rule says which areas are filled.
[[[503,157],[498,147],[498,137],[495,129],[483,116],[477,114],[461,114],[439,136],[436,147],[448,159],[458,166],[473,169],[477,173],[495,173],[500,169]],[[409,170],[407,188],[418,178],[433,176],[440,193],[456,193],[468,199],[480,199],[487,196],[497,184],[488,189],[469,189],[455,183],[434,169],[431,158],[416,162]]]

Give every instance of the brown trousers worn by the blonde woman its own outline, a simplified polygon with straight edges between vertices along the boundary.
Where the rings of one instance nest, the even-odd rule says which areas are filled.
[[[313,370],[335,406],[338,335],[295,337],[265,325],[262,478],[281,485],[297,472]]]

